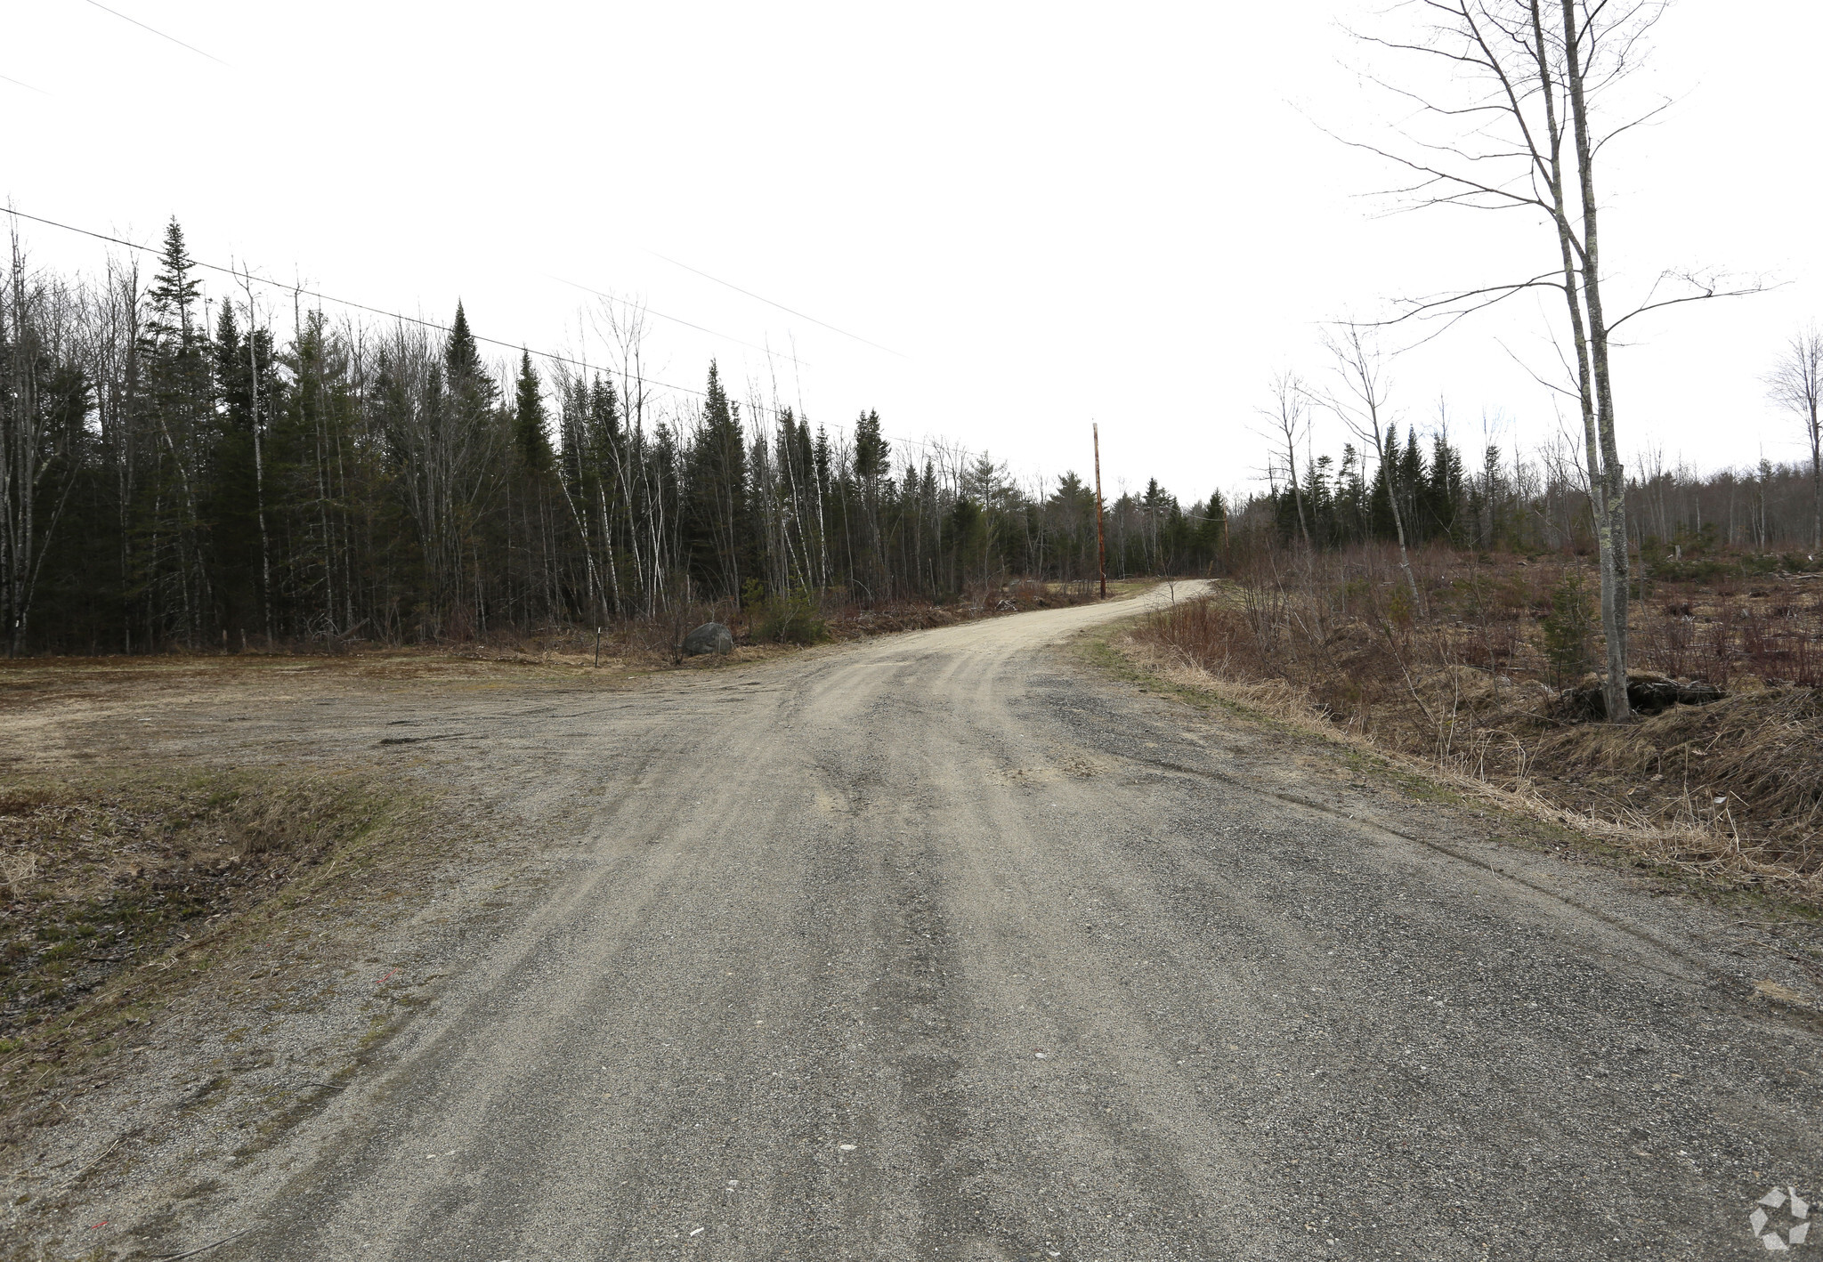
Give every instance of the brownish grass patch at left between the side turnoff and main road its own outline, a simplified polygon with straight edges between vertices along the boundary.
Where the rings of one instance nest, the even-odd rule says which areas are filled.
[[[423,835],[425,804],[328,768],[0,782],[0,1147],[49,1120],[53,1080],[135,1038],[215,965],[259,970],[286,912],[407,859],[397,843]]]

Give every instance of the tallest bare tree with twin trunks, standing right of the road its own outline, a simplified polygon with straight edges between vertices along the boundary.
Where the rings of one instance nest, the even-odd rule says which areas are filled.
[[[1407,206],[1529,212],[1557,259],[1533,275],[1416,299],[1396,317],[1457,319],[1526,290],[1559,290],[1568,316],[1568,390],[1581,407],[1606,638],[1608,719],[1630,717],[1626,698],[1628,545],[1626,469],[1615,430],[1612,336],[1661,306],[1723,295],[1710,275],[1664,272],[1632,310],[1606,305],[1597,159],[1624,131],[1666,108],[1612,119],[1608,100],[1643,64],[1646,36],[1666,0],[1409,0],[1404,36],[1360,35],[1444,71],[1444,82],[1375,80],[1407,113],[1395,148],[1351,140],[1404,168],[1413,182],[1393,190]],[[1416,82],[1416,80],[1413,80]],[[1661,288],[1664,292],[1661,292]],[[1726,290],[1752,292],[1750,288]],[[1396,323],[1396,321],[1395,321]]]

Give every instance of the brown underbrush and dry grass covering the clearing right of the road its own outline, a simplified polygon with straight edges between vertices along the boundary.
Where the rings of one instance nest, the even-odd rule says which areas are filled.
[[[1630,691],[1714,698],[1582,720],[1601,660],[1577,558],[1265,554],[1134,638],[1236,700],[1517,793],[1655,861],[1823,899],[1823,591],[1650,580]]]

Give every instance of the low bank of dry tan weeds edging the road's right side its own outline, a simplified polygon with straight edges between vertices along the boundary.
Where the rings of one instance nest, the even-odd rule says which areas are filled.
[[[1371,604],[1373,596],[1362,600]],[[1728,886],[1823,901],[1823,702],[1757,688],[1628,726],[1566,724],[1555,689],[1471,666],[1424,622],[1227,589],[1143,622],[1152,669],[1296,729],[1375,750],[1506,810]]]

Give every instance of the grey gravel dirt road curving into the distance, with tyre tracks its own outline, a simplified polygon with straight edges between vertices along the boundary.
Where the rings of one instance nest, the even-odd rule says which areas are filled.
[[[1763,1255],[1756,1198],[1823,1174],[1823,1041],[1730,915],[1059,647],[1132,609],[275,708],[572,843],[151,1253]]]

